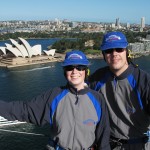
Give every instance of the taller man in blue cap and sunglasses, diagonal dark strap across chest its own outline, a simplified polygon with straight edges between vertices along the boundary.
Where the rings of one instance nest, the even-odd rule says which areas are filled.
[[[90,87],[105,97],[111,127],[111,148],[150,150],[150,75],[128,57],[122,32],[104,35],[101,50],[108,66],[89,77]]]

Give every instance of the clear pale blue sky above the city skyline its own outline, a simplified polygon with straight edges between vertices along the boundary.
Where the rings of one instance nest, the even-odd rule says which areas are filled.
[[[0,21],[60,20],[150,24],[150,0],[2,0]]]

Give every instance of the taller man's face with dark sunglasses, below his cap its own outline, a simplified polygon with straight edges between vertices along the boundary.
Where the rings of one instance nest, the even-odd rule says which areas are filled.
[[[117,76],[128,67],[126,53],[126,49],[124,48],[114,48],[104,51],[104,57],[110,70]]]

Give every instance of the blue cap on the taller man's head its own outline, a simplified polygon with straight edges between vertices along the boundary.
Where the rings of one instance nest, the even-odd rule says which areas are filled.
[[[127,39],[122,32],[109,32],[104,35],[100,49],[102,51],[111,48],[126,48],[128,46]]]

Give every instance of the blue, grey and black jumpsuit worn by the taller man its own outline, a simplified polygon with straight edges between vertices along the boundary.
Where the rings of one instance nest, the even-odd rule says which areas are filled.
[[[150,150],[150,76],[129,65],[116,77],[107,66],[94,72],[89,83],[106,100],[114,147]]]

